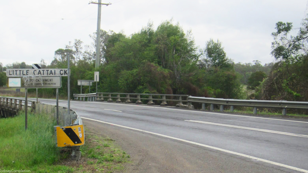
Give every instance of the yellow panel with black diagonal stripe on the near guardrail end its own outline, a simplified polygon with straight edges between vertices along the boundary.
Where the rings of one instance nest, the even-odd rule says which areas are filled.
[[[58,147],[74,147],[84,144],[83,125],[55,126],[55,135]]]

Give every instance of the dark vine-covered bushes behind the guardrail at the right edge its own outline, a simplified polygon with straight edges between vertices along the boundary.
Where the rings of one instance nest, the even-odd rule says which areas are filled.
[[[275,63],[269,76],[262,82],[261,98],[271,100],[307,101],[308,56],[301,56],[293,63]]]

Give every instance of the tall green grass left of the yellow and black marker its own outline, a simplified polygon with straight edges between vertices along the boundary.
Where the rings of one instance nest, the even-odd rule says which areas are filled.
[[[59,161],[53,132],[55,123],[48,116],[28,114],[27,130],[25,114],[0,119],[0,124],[0,167],[3,169],[34,169],[40,164]]]

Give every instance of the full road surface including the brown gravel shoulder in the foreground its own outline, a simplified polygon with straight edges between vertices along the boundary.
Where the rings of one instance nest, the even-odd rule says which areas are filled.
[[[39,101],[55,105],[55,100]],[[59,101],[65,105],[67,101]],[[305,119],[107,102],[71,101],[71,109],[86,125],[134,143],[135,155],[138,148],[152,153],[149,157],[160,161],[148,172],[308,172]]]

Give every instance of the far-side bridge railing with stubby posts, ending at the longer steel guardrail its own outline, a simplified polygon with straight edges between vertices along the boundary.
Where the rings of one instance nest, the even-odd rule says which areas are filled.
[[[115,96],[116,95],[116,96]],[[126,97],[121,97],[121,95],[126,95]],[[132,95],[136,97],[131,97]],[[148,98],[143,98],[141,96],[148,96]],[[193,108],[191,102],[187,99],[183,100],[182,97],[188,97],[189,95],[173,95],[173,94],[135,94],[135,93],[92,93],[92,94],[74,94],[75,100],[80,99],[80,101],[99,101],[107,98],[107,102],[113,102],[112,99],[116,99],[116,103],[122,103],[121,99],[125,99],[125,103],[132,103],[131,100],[136,100],[136,104],[142,104],[141,100],[148,100],[148,105],[154,105],[153,100],[162,101],[160,106],[167,106],[167,101],[177,102],[176,107],[188,107]],[[154,97],[154,98],[153,98]],[[169,97],[168,99],[166,97]],[[174,99],[174,97],[178,99]],[[186,105],[183,102],[188,102]]]

